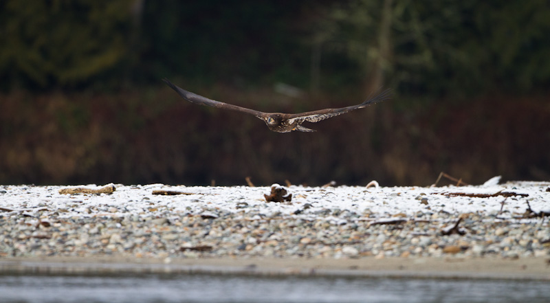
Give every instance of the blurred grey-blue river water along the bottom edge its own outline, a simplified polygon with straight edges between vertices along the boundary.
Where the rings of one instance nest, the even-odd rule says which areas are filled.
[[[550,302],[550,283],[208,274],[0,276],[0,302]]]

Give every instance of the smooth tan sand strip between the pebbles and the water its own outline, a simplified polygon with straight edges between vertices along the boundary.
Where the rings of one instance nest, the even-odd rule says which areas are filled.
[[[550,281],[548,258],[127,258],[28,257],[0,260],[2,275],[216,274],[268,277]]]

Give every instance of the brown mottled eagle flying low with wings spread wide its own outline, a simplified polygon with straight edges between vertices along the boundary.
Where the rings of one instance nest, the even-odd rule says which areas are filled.
[[[320,120],[325,120],[329,117],[334,117],[336,115],[341,115],[342,113],[347,113],[349,111],[354,111],[355,109],[362,109],[370,104],[386,100],[390,96],[390,89],[382,91],[382,93],[377,94],[373,98],[368,98],[361,104],[342,107],[340,109],[320,109],[318,111],[307,111],[305,113],[264,113],[262,111],[254,111],[254,109],[246,109],[245,107],[236,106],[233,104],[227,104],[219,101],[210,100],[203,96],[199,96],[196,93],[191,93],[177,87],[168,79],[162,79],[169,87],[179,93],[179,96],[188,100],[191,103],[214,106],[219,109],[230,109],[232,111],[241,111],[243,113],[250,113],[263,120],[267,127],[271,131],[276,131],[277,133],[290,133],[291,131],[305,131],[312,132],[313,129],[305,128],[302,126],[304,122],[319,122]]]

